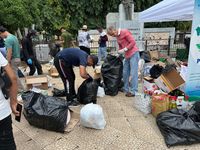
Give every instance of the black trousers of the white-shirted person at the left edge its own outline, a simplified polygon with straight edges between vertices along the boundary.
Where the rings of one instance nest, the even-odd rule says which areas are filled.
[[[11,115],[0,121],[0,150],[16,150]]]

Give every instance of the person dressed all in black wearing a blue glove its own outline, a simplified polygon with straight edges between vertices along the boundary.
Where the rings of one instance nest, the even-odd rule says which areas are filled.
[[[42,74],[42,66],[37,60],[35,53],[33,51],[33,42],[32,42],[32,36],[36,35],[35,30],[29,30],[26,37],[22,39],[22,53],[24,55],[24,60],[26,64],[30,68],[29,75],[33,75],[35,73],[35,70],[37,68],[38,75]]]

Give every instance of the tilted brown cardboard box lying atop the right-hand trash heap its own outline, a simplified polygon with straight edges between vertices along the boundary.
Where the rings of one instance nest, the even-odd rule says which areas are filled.
[[[179,86],[185,83],[183,78],[175,69],[168,73],[161,74],[160,77],[154,79],[154,82],[161,90],[167,93],[177,89]]]

